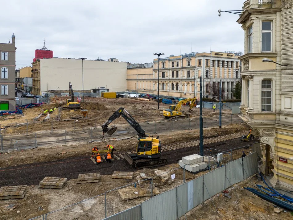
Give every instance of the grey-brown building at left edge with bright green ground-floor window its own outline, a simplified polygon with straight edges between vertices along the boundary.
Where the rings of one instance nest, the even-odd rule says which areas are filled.
[[[15,35],[11,43],[0,43],[0,111],[15,110]]]

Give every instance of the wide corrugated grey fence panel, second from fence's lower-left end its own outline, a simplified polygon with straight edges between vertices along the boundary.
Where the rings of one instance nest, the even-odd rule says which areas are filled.
[[[176,189],[143,202],[141,207],[143,220],[176,220]]]

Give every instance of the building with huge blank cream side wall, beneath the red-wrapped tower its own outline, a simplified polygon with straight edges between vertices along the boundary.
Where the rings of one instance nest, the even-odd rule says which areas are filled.
[[[32,63],[33,94],[44,95],[50,91],[82,90],[82,60],[53,57]],[[83,61],[84,91],[106,86],[113,92],[126,90],[125,62],[97,60]]]

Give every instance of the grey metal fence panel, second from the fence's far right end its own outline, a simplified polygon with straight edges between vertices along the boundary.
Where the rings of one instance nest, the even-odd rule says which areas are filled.
[[[226,168],[225,189],[229,188],[235,183],[238,183],[244,180],[241,158],[226,164],[225,168]]]

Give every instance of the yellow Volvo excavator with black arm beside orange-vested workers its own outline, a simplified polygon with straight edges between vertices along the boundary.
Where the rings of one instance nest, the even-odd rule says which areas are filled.
[[[117,127],[108,128],[108,125],[120,116],[122,116],[135,129],[135,131],[137,131],[138,135],[136,153],[125,153],[124,159],[137,169],[167,164],[167,159],[161,157],[161,142],[159,136],[153,138],[153,136],[146,135],[146,132],[142,129],[139,123],[122,107],[115,111],[102,125],[103,135],[105,133],[113,135],[117,130]]]

